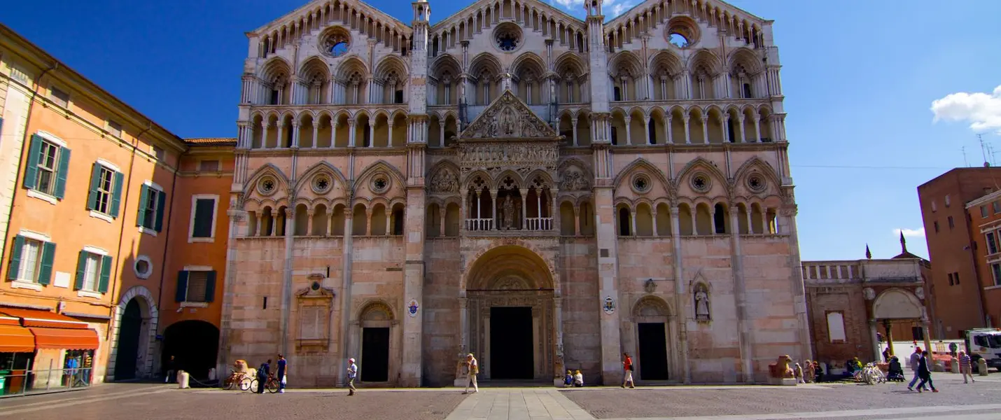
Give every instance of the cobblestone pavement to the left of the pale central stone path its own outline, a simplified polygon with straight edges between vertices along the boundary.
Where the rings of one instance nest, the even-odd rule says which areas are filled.
[[[443,420],[465,398],[460,391],[360,390],[257,395],[239,391],[159,388],[145,393],[95,395],[90,400],[24,406],[0,401],[0,420]],[[82,396],[80,391],[74,396]],[[52,397],[51,395],[45,396]]]

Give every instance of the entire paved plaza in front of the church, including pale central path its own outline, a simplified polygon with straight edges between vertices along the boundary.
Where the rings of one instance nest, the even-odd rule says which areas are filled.
[[[296,390],[256,395],[158,384],[0,400],[0,420],[1001,420],[1001,375],[965,385],[936,375],[941,392],[906,384]]]

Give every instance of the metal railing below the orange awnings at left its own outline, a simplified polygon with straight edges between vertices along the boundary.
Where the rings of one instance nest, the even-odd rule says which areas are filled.
[[[93,368],[0,369],[0,398],[89,388]]]

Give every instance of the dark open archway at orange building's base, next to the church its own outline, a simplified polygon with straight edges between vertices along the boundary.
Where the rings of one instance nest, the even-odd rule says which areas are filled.
[[[215,367],[219,350],[219,329],[205,321],[181,321],[163,331],[163,352],[160,360],[163,371],[167,361],[174,356],[174,369],[183,370],[194,378],[208,377]]]

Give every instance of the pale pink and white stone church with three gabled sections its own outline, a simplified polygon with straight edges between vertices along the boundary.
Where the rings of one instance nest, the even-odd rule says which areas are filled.
[[[289,383],[761,382],[810,354],[772,21],[718,0],[248,32],[220,367]],[[222,370],[225,371],[225,370]]]

